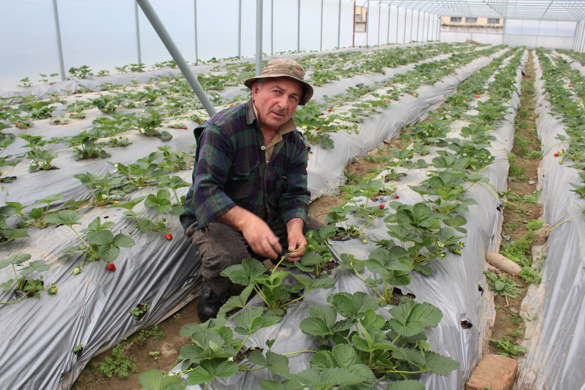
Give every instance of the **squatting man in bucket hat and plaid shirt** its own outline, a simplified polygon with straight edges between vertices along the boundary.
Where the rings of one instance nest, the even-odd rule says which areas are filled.
[[[271,60],[244,82],[252,98],[225,109],[194,130],[193,184],[181,223],[201,254],[201,321],[215,317],[232,282],[220,272],[244,258],[277,261],[307,244],[321,223],[308,216],[308,148],[292,120],[313,95],[296,61]]]

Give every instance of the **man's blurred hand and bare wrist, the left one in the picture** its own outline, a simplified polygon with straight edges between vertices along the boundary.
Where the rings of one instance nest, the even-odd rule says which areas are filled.
[[[250,249],[260,256],[275,260],[278,258],[278,254],[283,251],[278,237],[270,229],[270,226],[259,216],[254,215],[240,206],[234,206],[219,217],[218,220],[219,222],[239,229],[250,246]]]

